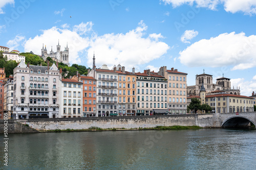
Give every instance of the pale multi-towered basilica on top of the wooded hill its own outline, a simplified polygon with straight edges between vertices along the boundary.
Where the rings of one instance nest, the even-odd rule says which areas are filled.
[[[47,49],[46,49],[46,45],[44,48],[44,44],[42,44],[42,49],[41,49],[41,56],[42,58],[46,61],[47,57],[51,57],[53,61],[57,61],[57,62],[61,62],[63,64],[67,64],[68,66],[70,66],[69,64],[69,47],[68,47],[68,43],[67,43],[67,47],[65,47],[64,51],[60,51],[60,45],[58,42],[57,46],[57,52],[53,52],[52,50],[50,51],[50,53],[48,54]]]

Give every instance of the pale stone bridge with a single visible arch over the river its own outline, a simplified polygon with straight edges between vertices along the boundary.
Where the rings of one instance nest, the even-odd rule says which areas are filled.
[[[231,128],[256,125],[256,112],[213,113],[212,127]]]

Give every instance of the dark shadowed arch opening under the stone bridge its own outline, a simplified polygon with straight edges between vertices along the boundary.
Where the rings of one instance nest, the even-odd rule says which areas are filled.
[[[222,128],[247,127],[250,122],[253,125],[255,125],[255,122],[253,122],[250,118],[243,117],[243,116],[232,116],[225,119],[222,122],[221,127]]]

